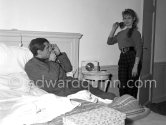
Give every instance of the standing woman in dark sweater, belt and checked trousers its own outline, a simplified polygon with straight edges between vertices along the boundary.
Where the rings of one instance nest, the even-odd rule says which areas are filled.
[[[122,12],[123,22],[114,23],[107,44],[118,43],[121,51],[118,62],[119,94],[132,95],[137,98],[138,82],[141,71],[142,40],[137,30],[138,18],[134,10],[125,9]],[[124,28],[116,35],[117,28]]]

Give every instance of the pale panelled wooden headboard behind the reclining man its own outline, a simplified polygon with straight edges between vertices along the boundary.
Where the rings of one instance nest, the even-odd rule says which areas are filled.
[[[21,30],[0,30],[0,42],[10,46],[28,47],[30,41],[37,37],[43,37],[56,43],[62,52],[66,52],[72,65],[74,77],[78,77],[79,69],[79,41],[80,33],[43,32],[43,31],[21,31]]]

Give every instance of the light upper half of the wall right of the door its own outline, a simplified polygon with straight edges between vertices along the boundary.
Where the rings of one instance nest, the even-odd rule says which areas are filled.
[[[157,0],[154,62],[166,62],[166,0]]]

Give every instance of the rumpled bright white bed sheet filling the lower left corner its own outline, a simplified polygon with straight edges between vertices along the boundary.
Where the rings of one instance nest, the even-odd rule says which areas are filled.
[[[36,88],[24,73],[0,76],[0,125],[47,122],[78,105]]]

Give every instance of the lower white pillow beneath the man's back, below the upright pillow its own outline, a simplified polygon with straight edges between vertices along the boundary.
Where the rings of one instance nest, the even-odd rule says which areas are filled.
[[[41,96],[46,91],[37,88],[26,73],[0,75],[0,100],[22,95]]]

